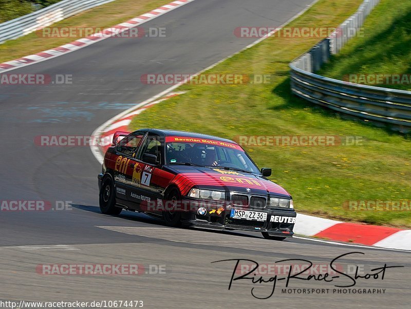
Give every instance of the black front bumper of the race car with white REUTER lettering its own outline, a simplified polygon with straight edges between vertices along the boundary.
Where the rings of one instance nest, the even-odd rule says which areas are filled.
[[[216,211],[213,212],[213,209],[216,208],[211,207],[210,209],[207,209],[207,214],[204,215],[200,215],[196,209],[191,209],[190,212],[185,212],[182,215],[182,222],[191,226],[208,229],[268,232],[270,235],[278,237],[292,237],[292,235],[294,234],[293,228],[296,217],[296,212],[294,211],[294,209],[253,209],[248,207],[240,208],[229,204],[223,206],[223,208],[224,210],[218,214]],[[254,221],[246,219],[232,219],[230,217],[231,209],[266,212],[267,220]],[[212,211],[212,213],[210,213],[210,211]]]

